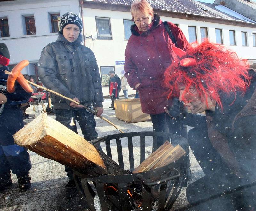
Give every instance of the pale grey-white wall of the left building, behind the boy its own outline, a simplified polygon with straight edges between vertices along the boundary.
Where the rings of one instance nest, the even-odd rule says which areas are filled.
[[[75,12],[79,14],[77,0],[50,1],[50,0],[20,0],[1,2],[0,18],[7,17],[10,37],[0,38],[10,51],[10,64],[17,64],[27,59],[30,64],[22,70],[23,74],[35,74],[33,63],[37,63],[42,49],[54,42],[58,35],[50,33],[51,20],[49,13]],[[35,17],[36,34],[24,35],[22,15],[33,14]]]

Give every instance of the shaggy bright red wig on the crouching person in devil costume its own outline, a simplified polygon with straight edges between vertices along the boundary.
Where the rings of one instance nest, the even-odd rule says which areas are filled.
[[[245,93],[250,85],[249,64],[246,60],[239,59],[235,52],[225,49],[223,45],[207,40],[194,45],[196,47],[190,47],[186,55],[178,57],[165,71],[164,83],[169,88],[168,98],[179,96],[180,86],[185,87],[184,94],[193,87],[199,93],[202,102],[206,101],[208,105],[209,94],[209,97],[222,108],[220,92]],[[188,57],[194,58],[196,64],[181,66],[180,61]]]

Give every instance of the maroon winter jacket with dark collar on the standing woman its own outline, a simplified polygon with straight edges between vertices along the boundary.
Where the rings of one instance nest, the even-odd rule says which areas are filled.
[[[174,35],[177,47],[186,51],[189,43],[179,27],[168,22]],[[142,112],[159,114],[164,107],[171,104],[164,94],[167,89],[163,87],[164,71],[176,57],[172,51],[175,44],[169,38],[159,15],[154,14],[154,20],[147,32],[140,32],[134,24],[131,26],[132,35],[125,49],[125,77],[130,87],[137,88],[140,94]]]

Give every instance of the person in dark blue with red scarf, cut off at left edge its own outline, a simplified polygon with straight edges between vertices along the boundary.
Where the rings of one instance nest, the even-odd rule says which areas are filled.
[[[24,127],[20,103],[28,102],[27,93],[18,82],[15,92],[6,90],[10,54],[7,46],[0,43],[0,191],[12,184],[11,171],[16,174],[20,191],[30,189],[31,162],[28,150],[14,143],[13,135]]]

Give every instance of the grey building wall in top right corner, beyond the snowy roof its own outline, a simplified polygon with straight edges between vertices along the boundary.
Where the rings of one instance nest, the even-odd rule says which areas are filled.
[[[247,18],[256,21],[256,11],[252,7],[243,4],[237,0],[215,0],[214,4],[220,4],[220,2],[225,2],[224,6],[231,10],[234,10]],[[222,4],[223,5],[223,4]]]

